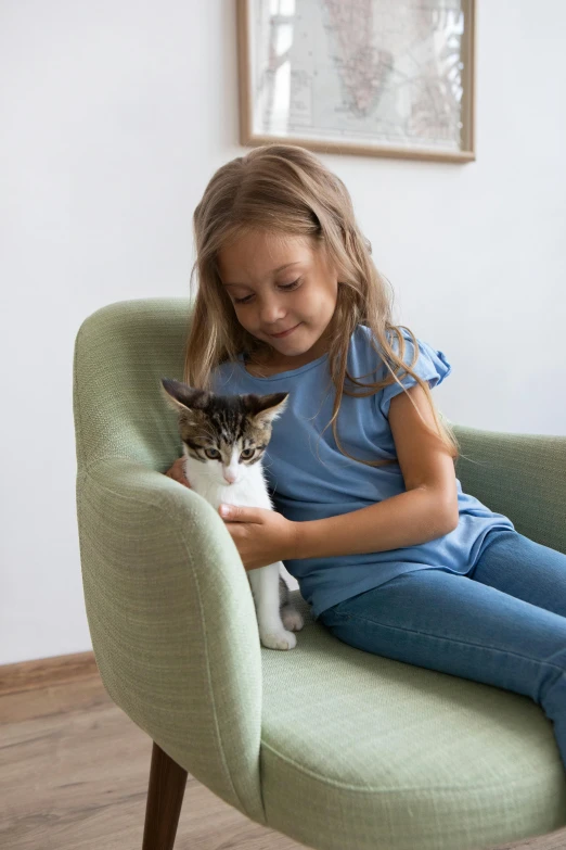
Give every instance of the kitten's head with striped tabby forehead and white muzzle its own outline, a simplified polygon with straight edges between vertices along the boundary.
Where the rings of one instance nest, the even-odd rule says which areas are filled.
[[[164,397],[179,414],[188,458],[207,465],[219,483],[236,484],[261,459],[271,423],[286,407],[288,393],[217,395],[181,381],[162,379]]]

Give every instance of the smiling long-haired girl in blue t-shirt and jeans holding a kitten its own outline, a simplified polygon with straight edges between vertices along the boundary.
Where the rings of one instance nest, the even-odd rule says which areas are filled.
[[[245,568],[284,560],[351,646],[528,695],[566,767],[566,556],[462,492],[430,395],[450,364],[393,323],[342,180],[256,148],[216,172],[194,230],[185,382],[290,393],[265,454],[276,511],[227,522]],[[188,484],[182,459],[166,474]]]

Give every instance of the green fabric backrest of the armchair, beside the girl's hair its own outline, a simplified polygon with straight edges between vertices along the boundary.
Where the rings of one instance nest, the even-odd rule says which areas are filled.
[[[160,379],[182,380],[190,309],[189,299],[124,301],[82,322],[75,346],[81,391],[74,393],[82,426],[79,467],[127,457],[165,471],[180,457],[177,417],[163,399]]]

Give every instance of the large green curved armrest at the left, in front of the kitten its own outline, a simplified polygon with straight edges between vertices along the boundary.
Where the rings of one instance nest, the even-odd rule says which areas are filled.
[[[112,699],[198,782],[266,823],[261,654],[242,560],[201,496],[131,459],[77,474],[89,629]]]

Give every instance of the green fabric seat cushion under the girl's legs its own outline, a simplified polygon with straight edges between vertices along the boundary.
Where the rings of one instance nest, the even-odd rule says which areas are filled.
[[[479,850],[566,823],[530,698],[350,647],[292,598],[297,647],[261,650],[270,827],[321,850]]]

